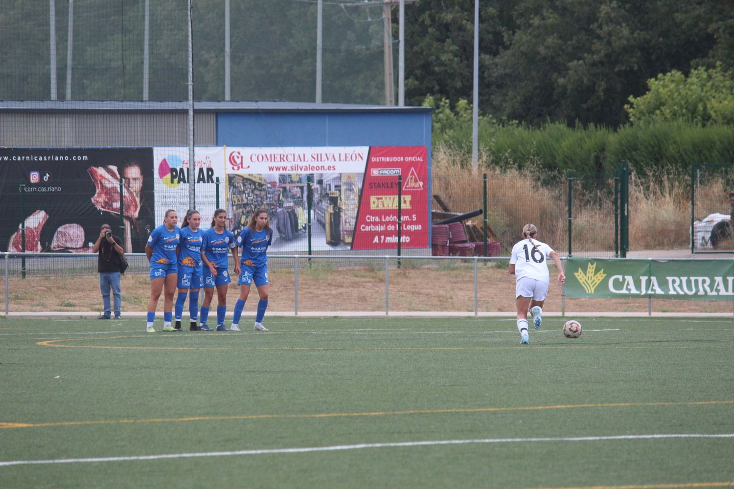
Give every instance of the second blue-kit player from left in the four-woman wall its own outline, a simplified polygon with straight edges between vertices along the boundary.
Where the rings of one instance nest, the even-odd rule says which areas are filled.
[[[173,309],[175,328],[181,331],[181,316],[186,295],[189,295],[190,331],[199,331],[196,321],[199,316],[199,290],[204,283],[202,276],[201,245],[204,232],[199,229],[201,215],[189,209],[181,222],[181,243],[178,243],[178,297]]]

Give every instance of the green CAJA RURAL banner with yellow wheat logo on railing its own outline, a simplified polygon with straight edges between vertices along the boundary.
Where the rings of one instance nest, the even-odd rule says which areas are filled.
[[[569,258],[567,297],[734,301],[734,260]]]

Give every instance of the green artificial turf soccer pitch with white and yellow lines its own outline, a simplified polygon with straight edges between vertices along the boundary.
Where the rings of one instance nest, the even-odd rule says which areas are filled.
[[[2,488],[734,485],[734,321],[0,320]]]

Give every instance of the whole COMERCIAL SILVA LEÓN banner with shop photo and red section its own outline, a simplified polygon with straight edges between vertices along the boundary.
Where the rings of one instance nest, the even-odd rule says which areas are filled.
[[[271,249],[308,249],[310,176],[313,250],[396,249],[401,176],[401,247],[429,246],[425,146],[228,147],[226,152],[233,232],[264,207],[275,230]]]

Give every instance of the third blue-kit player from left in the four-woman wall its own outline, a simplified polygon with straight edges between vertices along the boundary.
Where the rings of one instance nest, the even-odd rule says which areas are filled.
[[[217,287],[217,331],[229,331],[225,328],[225,314],[227,313],[227,289],[232,282],[228,271],[229,250],[234,257],[234,271],[239,275],[237,260],[237,245],[232,232],[225,229],[227,225],[227,211],[217,209],[211,220],[211,227],[204,232],[201,246],[201,260],[204,262],[202,276],[204,278],[204,301],[201,303],[201,326],[203,331],[211,331],[206,326],[209,315],[209,305],[214,297],[214,287]]]

